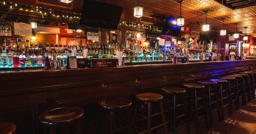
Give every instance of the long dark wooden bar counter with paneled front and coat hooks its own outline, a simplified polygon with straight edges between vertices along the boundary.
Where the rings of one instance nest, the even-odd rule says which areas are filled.
[[[135,104],[137,93],[160,93],[162,87],[182,87],[183,83],[255,69],[255,64],[256,59],[248,59],[57,71],[1,71],[0,122],[14,123],[17,134],[43,133],[38,115],[52,108],[80,107],[85,112],[81,123],[83,132],[95,133],[98,100],[124,97]]]

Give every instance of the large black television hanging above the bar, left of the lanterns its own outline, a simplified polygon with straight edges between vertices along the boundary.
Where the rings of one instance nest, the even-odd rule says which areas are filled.
[[[79,25],[117,29],[123,7],[100,2],[84,0]]]

